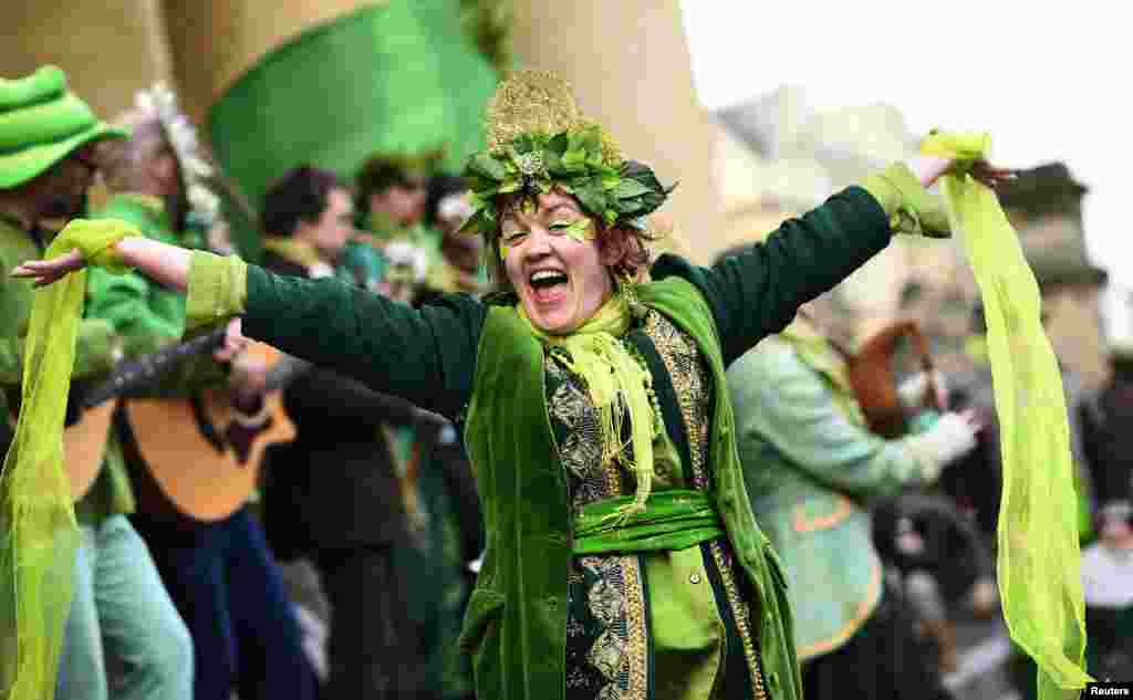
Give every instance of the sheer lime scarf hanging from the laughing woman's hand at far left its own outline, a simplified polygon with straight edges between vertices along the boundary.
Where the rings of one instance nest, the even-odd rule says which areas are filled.
[[[139,236],[120,221],[76,220],[48,258],[75,248],[116,272],[111,246]],[[63,418],[86,272],[36,290],[24,350],[19,422],[0,472],[0,697],[51,700],[70,612],[78,526],[63,472]]]

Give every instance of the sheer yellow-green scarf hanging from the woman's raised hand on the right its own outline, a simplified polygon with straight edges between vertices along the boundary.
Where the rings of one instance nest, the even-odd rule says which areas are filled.
[[[957,171],[989,148],[985,134],[934,133],[921,146],[956,159]],[[1038,283],[995,193],[959,172],[940,187],[987,316],[1003,452],[997,567],[1004,617],[1038,665],[1039,700],[1070,700],[1092,678],[1083,671],[1077,498],[1062,374],[1040,321]]]

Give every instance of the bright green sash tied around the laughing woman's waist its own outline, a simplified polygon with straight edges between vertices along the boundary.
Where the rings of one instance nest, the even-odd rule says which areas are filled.
[[[582,506],[574,518],[574,554],[679,550],[725,535],[715,503],[702,490],[655,492],[644,511],[619,518],[633,501],[621,496]]]

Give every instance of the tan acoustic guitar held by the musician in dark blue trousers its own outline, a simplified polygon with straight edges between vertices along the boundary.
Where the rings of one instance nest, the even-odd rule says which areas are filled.
[[[258,485],[266,450],[295,438],[281,390],[309,365],[271,345],[248,352],[271,368],[263,408],[249,417],[223,389],[191,399],[130,399],[119,412],[134,470],[138,511],[182,528],[215,522],[242,507]]]

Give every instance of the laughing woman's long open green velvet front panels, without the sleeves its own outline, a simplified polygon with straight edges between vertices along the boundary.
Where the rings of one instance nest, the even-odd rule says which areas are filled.
[[[681,278],[645,284],[638,294],[691,335],[708,360],[715,384],[709,469],[716,503],[759,597],[753,622],[765,680],[773,697],[801,698],[785,580],[744,490],[712,310],[699,290]],[[475,652],[480,698],[563,693],[572,522],[565,470],[544,401],[543,352],[513,308],[492,308],[480,336],[476,392],[465,430],[480,494],[487,495],[487,555],[461,639]]]

